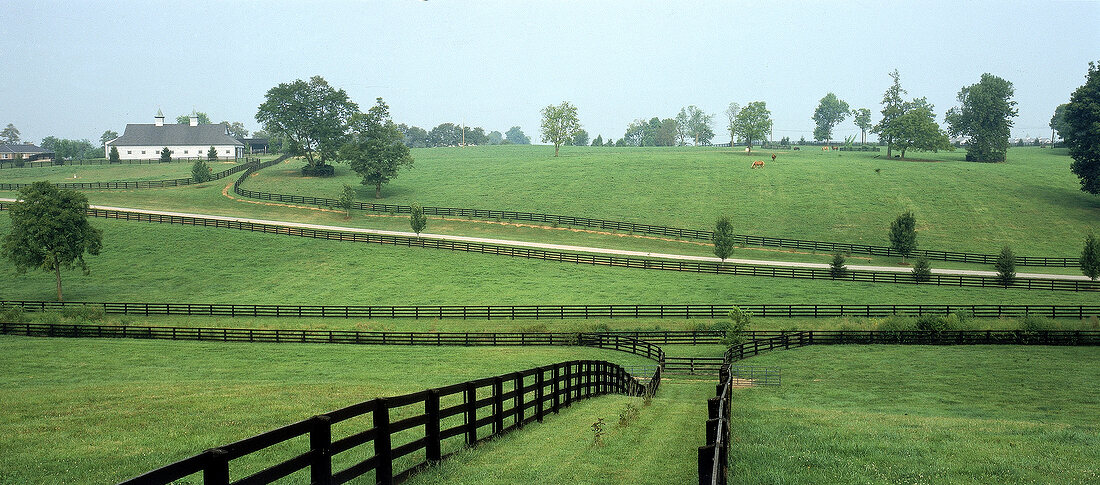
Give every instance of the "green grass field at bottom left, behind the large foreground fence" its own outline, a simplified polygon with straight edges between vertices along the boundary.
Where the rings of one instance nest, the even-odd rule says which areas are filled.
[[[366,399],[582,359],[652,363],[622,352],[562,346],[0,337],[0,368],[4,370],[0,375],[0,483],[117,483],[208,448]],[[601,399],[607,398],[593,403]],[[623,399],[609,405],[619,406]],[[602,416],[610,418],[609,412],[618,408]],[[362,419],[333,427],[333,436],[339,439],[370,428],[370,419]],[[574,419],[585,421],[587,415],[574,418],[565,410],[528,429],[548,428],[542,432],[554,436],[561,426],[568,432],[563,439],[583,440],[584,436],[566,428]],[[234,461],[233,477],[307,448],[307,442],[297,440],[254,459]],[[346,458],[338,458],[338,463],[349,464]]]

